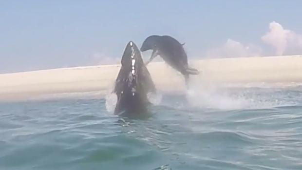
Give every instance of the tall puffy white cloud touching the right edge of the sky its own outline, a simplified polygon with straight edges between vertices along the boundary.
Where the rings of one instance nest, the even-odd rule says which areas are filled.
[[[302,35],[286,30],[280,23],[269,23],[269,31],[261,38],[276,50],[276,55],[302,53]]]

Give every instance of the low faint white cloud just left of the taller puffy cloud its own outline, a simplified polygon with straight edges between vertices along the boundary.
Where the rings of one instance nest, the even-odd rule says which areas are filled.
[[[260,56],[262,49],[253,44],[244,45],[233,39],[227,39],[227,42],[221,47],[210,49],[207,57],[256,57]]]

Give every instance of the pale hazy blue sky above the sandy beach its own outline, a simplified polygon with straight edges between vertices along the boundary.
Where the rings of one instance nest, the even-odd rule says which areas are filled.
[[[294,35],[292,44],[302,43],[301,6],[301,0],[0,0],[0,73],[116,61],[129,40],[140,46],[150,35],[186,42],[189,58],[302,54],[287,40]]]

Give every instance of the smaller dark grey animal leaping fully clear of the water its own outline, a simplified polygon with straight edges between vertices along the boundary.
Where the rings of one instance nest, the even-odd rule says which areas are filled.
[[[152,61],[154,57],[159,55],[172,68],[179,71],[184,77],[188,87],[189,75],[198,75],[199,71],[188,66],[188,57],[183,45],[175,38],[170,36],[152,35],[145,39],[140,50],[142,52],[153,50],[152,55],[146,65]]]

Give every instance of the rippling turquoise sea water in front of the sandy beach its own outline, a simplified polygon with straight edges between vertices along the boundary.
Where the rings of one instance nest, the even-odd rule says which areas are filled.
[[[2,102],[0,170],[302,170],[301,87],[164,94],[150,109],[133,120],[98,97]]]

